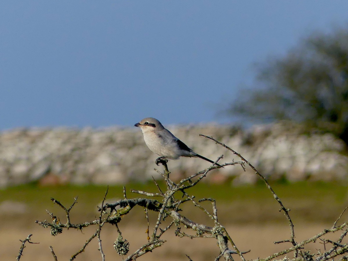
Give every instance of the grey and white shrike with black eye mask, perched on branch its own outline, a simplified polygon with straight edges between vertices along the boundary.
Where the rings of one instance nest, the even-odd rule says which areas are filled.
[[[185,143],[175,137],[169,130],[167,130],[161,122],[155,118],[145,118],[134,125],[140,127],[144,135],[144,141],[149,149],[156,153],[159,158],[156,159],[156,164],[163,159],[178,159],[182,157],[198,157],[214,163],[214,161],[207,159],[195,152],[193,152]],[[217,166],[221,165],[215,163]]]

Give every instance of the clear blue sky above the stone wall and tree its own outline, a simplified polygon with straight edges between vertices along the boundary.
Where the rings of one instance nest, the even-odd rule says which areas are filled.
[[[2,1],[0,130],[233,122],[253,64],[348,25],[348,1]],[[247,95],[247,93],[243,94]]]

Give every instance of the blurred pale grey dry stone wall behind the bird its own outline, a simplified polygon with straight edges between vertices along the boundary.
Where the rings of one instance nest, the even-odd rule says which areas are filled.
[[[345,144],[331,134],[303,134],[299,126],[279,123],[254,126],[248,131],[221,125],[169,126],[195,152],[219,162],[238,161],[213,141],[213,136],[250,161],[268,179],[347,180]],[[159,177],[157,155],[142,139],[139,128],[15,129],[0,133],[0,187],[28,182],[123,184]],[[170,160],[174,179],[210,164],[199,158]],[[258,177],[240,166],[209,174],[211,182],[254,183]]]

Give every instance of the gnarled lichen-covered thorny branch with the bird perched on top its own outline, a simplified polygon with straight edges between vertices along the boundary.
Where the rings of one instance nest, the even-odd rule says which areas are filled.
[[[222,156],[220,156],[217,160],[221,159]],[[217,161],[216,160],[216,161]],[[137,251],[134,253],[128,255],[128,257],[124,260],[135,260],[139,256],[142,256],[145,253],[148,253],[155,248],[163,245],[166,241],[161,239],[161,236],[170,230],[170,228],[175,225],[177,227],[176,235],[181,236],[190,236],[191,238],[194,237],[206,237],[206,238],[215,238],[217,240],[217,244],[220,249],[220,254],[222,253],[222,256],[225,260],[233,260],[231,254],[232,253],[238,253],[242,260],[245,261],[243,258],[242,253],[237,249],[235,244],[232,244],[235,251],[228,251],[228,242],[232,242],[230,236],[227,234],[226,229],[218,222],[217,219],[217,209],[215,200],[212,198],[202,199],[196,201],[194,196],[190,196],[186,190],[189,188],[195,186],[199,183],[200,180],[202,180],[208,172],[212,171],[213,169],[219,168],[219,166],[212,165],[209,168],[205,169],[204,171],[197,172],[183,180],[181,180],[179,183],[175,184],[172,180],[169,178],[169,170],[168,166],[165,160],[160,161],[160,163],[164,166],[164,173],[159,172],[165,179],[165,183],[167,186],[166,191],[162,191],[159,188],[159,185],[157,182],[155,182],[158,192],[146,192],[146,191],[139,191],[139,190],[130,190],[133,193],[137,193],[140,195],[145,195],[148,197],[161,197],[162,200],[158,201],[151,198],[132,198],[129,199],[126,197],[126,190],[124,188],[123,195],[124,198],[120,199],[114,203],[106,203],[104,204],[104,200],[106,198],[107,191],[105,193],[104,199],[102,201],[101,206],[99,207],[99,211],[101,212],[98,219],[93,221],[87,221],[84,223],[79,224],[73,224],[70,222],[70,210],[74,206],[74,204],[77,203],[77,198],[75,198],[74,202],[69,208],[66,208],[63,206],[60,201],[53,199],[52,201],[64,209],[66,213],[66,222],[62,223],[58,217],[56,217],[53,213],[47,211],[47,213],[51,216],[52,222],[48,221],[35,221],[36,223],[40,224],[43,227],[50,227],[51,228],[51,234],[57,235],[60,234],[63,229],[67,228],[75,228],[82,230],[82,228],[96,225],[97,229],[96,232],[86,241],[85,245],[77,251],[71,258],[71,260],[75,259],[77,255],[82,253],[86,246],[92,241],[93,238],[97,237],[98,239],[98,250],[101,252],[101,258],[102,260],[105,260],[105,255],[102,250],[102,242],[100,239],[100,233],[102,226],[105,223],[114,224],[117,227],[118,231],[118,239],[115,241],[114,247],[118,254],[120,255],[126,255],[128,254],[129,250],[129,243],[127,240],[122,238],[122,234],[120,229],[118,228],[118,223],[121,221],[122,218],[125,217],[126,214],[128,214],[133,207],[140,206],[145,209],[146,218],[148,220],[148,211],[158,212],[157,220],[155,221],[155,224],[152,228],[151,235],[149,234],[150,226],[148,226],[148,242],[144,244],[143,246],[139,247]],[[223,166],[228,165],[235,165],[235,164],[242,164],[242,162],[232,162],[232,163],[226,163],[223,164]],[[157,170],[156,170],[157,171]],[[196,178],[196,179],[195,179]],[[192,181],[195,179],[195,181]],[[179,196],[179,198],[177,198]],[[212,203],[212,214],[205,208],[199,205],[199,202],[209,200]],[[192,202],[192,204],[199,209],[201,209],[205,214],[207,214],[213,221],[214,221],[214,227],[206,226],[205,224],[201,224],[199,222],[195,222],[193,220],[188,219],[183,214],[179,213],[181,211],[180,206],[181,204],[184,204],[186,202]],[[119,207],[119,208],[118,208]],[[165,227],[163,227],[163,221],[165,221],[167,218],[171,218],[171,221],[169,224]],[[150,224],[150,222],[148,222]],[[184,232],[181,232],[181,228],[179,227],[180,224],[183,224],[185,228],[192,229],[196,232],[195,235],[187,235]]]

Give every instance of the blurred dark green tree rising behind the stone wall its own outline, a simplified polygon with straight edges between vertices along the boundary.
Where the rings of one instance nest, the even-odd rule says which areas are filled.
[[[229,113],[293,120],[348,144],[348,30],[311,35],[284,57],[262,64],[256,82],[259,88],[243,92]]]

